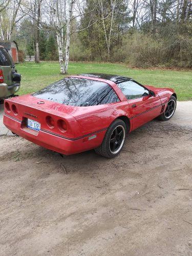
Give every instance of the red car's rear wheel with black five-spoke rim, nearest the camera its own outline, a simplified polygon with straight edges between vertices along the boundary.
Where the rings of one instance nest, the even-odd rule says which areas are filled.
[[[116,157],[122,150],[126,136],[126,125],[116,119],[109,127],[102,144],[95,148],[95,152],[106,158]]]

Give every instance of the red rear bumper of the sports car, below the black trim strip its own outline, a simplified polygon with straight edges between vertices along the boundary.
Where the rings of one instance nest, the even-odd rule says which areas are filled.
[[[23,137],[39,146],[61,153],[72,155],[91,150],[102,143],[106,129],[80,138],[65,138],[60,135],[40,130],[36,135],[30,129],[23,129],[22,122],[4,114],[4,124],[13,133]],[[96,137],[94,136],[96,135]],[[95,137],[93,139],[89,139]]]

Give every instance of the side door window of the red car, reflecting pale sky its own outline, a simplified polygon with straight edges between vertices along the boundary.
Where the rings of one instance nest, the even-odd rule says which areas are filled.
[[[148,95],[148,91],[134,81],[118,83],[118,87],[127,99],[135,99]]]

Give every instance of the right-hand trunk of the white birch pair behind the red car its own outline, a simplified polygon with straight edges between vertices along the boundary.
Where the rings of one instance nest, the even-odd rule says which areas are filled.
[[[68,16],[67,16],[67,30],[66,30],[66,49],[65,49],[65,74],[68,73],[69,65],[69,50],[70,50],[70,37],[71,37],[71,18],[73,11],[73,0],[67,1]]]

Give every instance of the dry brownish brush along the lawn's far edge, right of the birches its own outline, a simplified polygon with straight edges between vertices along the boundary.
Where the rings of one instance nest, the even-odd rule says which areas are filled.
[[[155,35],[144,32],[127,32],[121,45],[111,49],[110,60],[112,62],[124,62],[129,66],[138,68],[150,67],[192,67],[192,26],[190,23],[167,24],[162,34],[157,30]],[[83,48],[83,47],[82,47]],[[102,54],[96,54],[96,47],[81,49],[79,44],[73,60],[105,61],[108,59],[106,49],[102,48]],[[98,50],[98,49],[97,49]],[[78,55],[78,56],[77,56]]]

